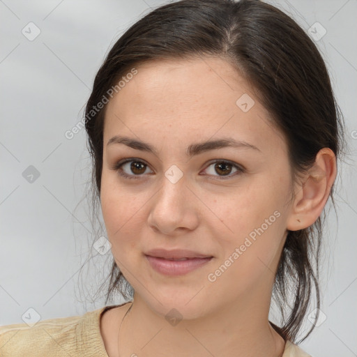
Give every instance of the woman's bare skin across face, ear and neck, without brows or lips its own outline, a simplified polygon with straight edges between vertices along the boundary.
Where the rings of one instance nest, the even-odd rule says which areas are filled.
[[[333,151],[322,149],[312,170],[292,185],[283,135],[227,61],[204,57],[136,68],[137,75],[109,100],[103,137],[102,214],[116,264],[135,289],[121,326],[120,356],[282,356],[284,340],[268,322],[275,271],[287,229],[312,225],[326,204],[336,176]],[[248,112],[236,105],[244,93],[255,100]],[[158,154],[107,146],[114,135],[147,142]],[[190,144],[227,137],[260,151],[227,147],[192,158],[185,153]],[[124,158],[144,162],[135,172],[130,163],[121,167],[138,179],[112,168]],[[219,171],[214,160],[230,160],[245,171],[229,165]],[[183,173],[176,183],[165,176],[172,165]],[[208,274],[274,211],[280,217],[209,281]],[[143,252],[152,248],[190,249],[213,259],[168,277],[146,261]],[[110,357],[119,356],[119,324],[130,305],[102,316]],[[176,326],[165,319],[172,308],[183,316]]]

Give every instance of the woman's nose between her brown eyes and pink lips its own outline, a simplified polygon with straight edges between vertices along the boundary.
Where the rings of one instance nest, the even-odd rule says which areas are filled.
[[[162,179],[162,187],[151,201],[149,226],[155,231],[176,236],[195,229],[199,223],[199,200],[183,176],[178,182]]]

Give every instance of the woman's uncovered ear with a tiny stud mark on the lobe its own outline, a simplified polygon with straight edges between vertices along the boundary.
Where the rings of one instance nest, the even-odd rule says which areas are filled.
[[[337,174],[335,153],[324,148],[316,155],[314,166],[296,188],[287,220],[287,229],[297,231],[312,225],[327,202]]]

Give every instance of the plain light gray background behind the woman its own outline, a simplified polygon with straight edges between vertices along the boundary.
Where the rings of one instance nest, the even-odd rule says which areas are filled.
[[[357,2],[269,2],[305,31],[315,22],[326,29],[317,44],[353,154],[337,179],[338,224],[331,209],[325,236],[321,310],[327,319],[301,347],[315,357],[357,356]],[[109,47],[163,3],[0,1],[0,325],[22,323],[30,307],[41,319],[50,319],[104,305],[103,296],[93,294],[108,271],[110,252],[87,261],[79,274],[89,257],[92,231],[89,202],[80,203],[89,179],[85,130],[71,140],[64,133],[81,119]],[[22,34],[29,22],[41,31],[33,41]],[[29,165],[40,172],[33,183],[22,176]]]

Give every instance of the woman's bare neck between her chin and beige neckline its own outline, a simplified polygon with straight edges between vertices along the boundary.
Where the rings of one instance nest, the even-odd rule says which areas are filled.
[[[265,291],[262,298],[257,287],[257,294],[250,291],[202,316],[171,323],[165,318],[171,308],[155,310],[135,293],[121,326],[120,356],[280,357],[284,340],[269,324],[271,291]]]

